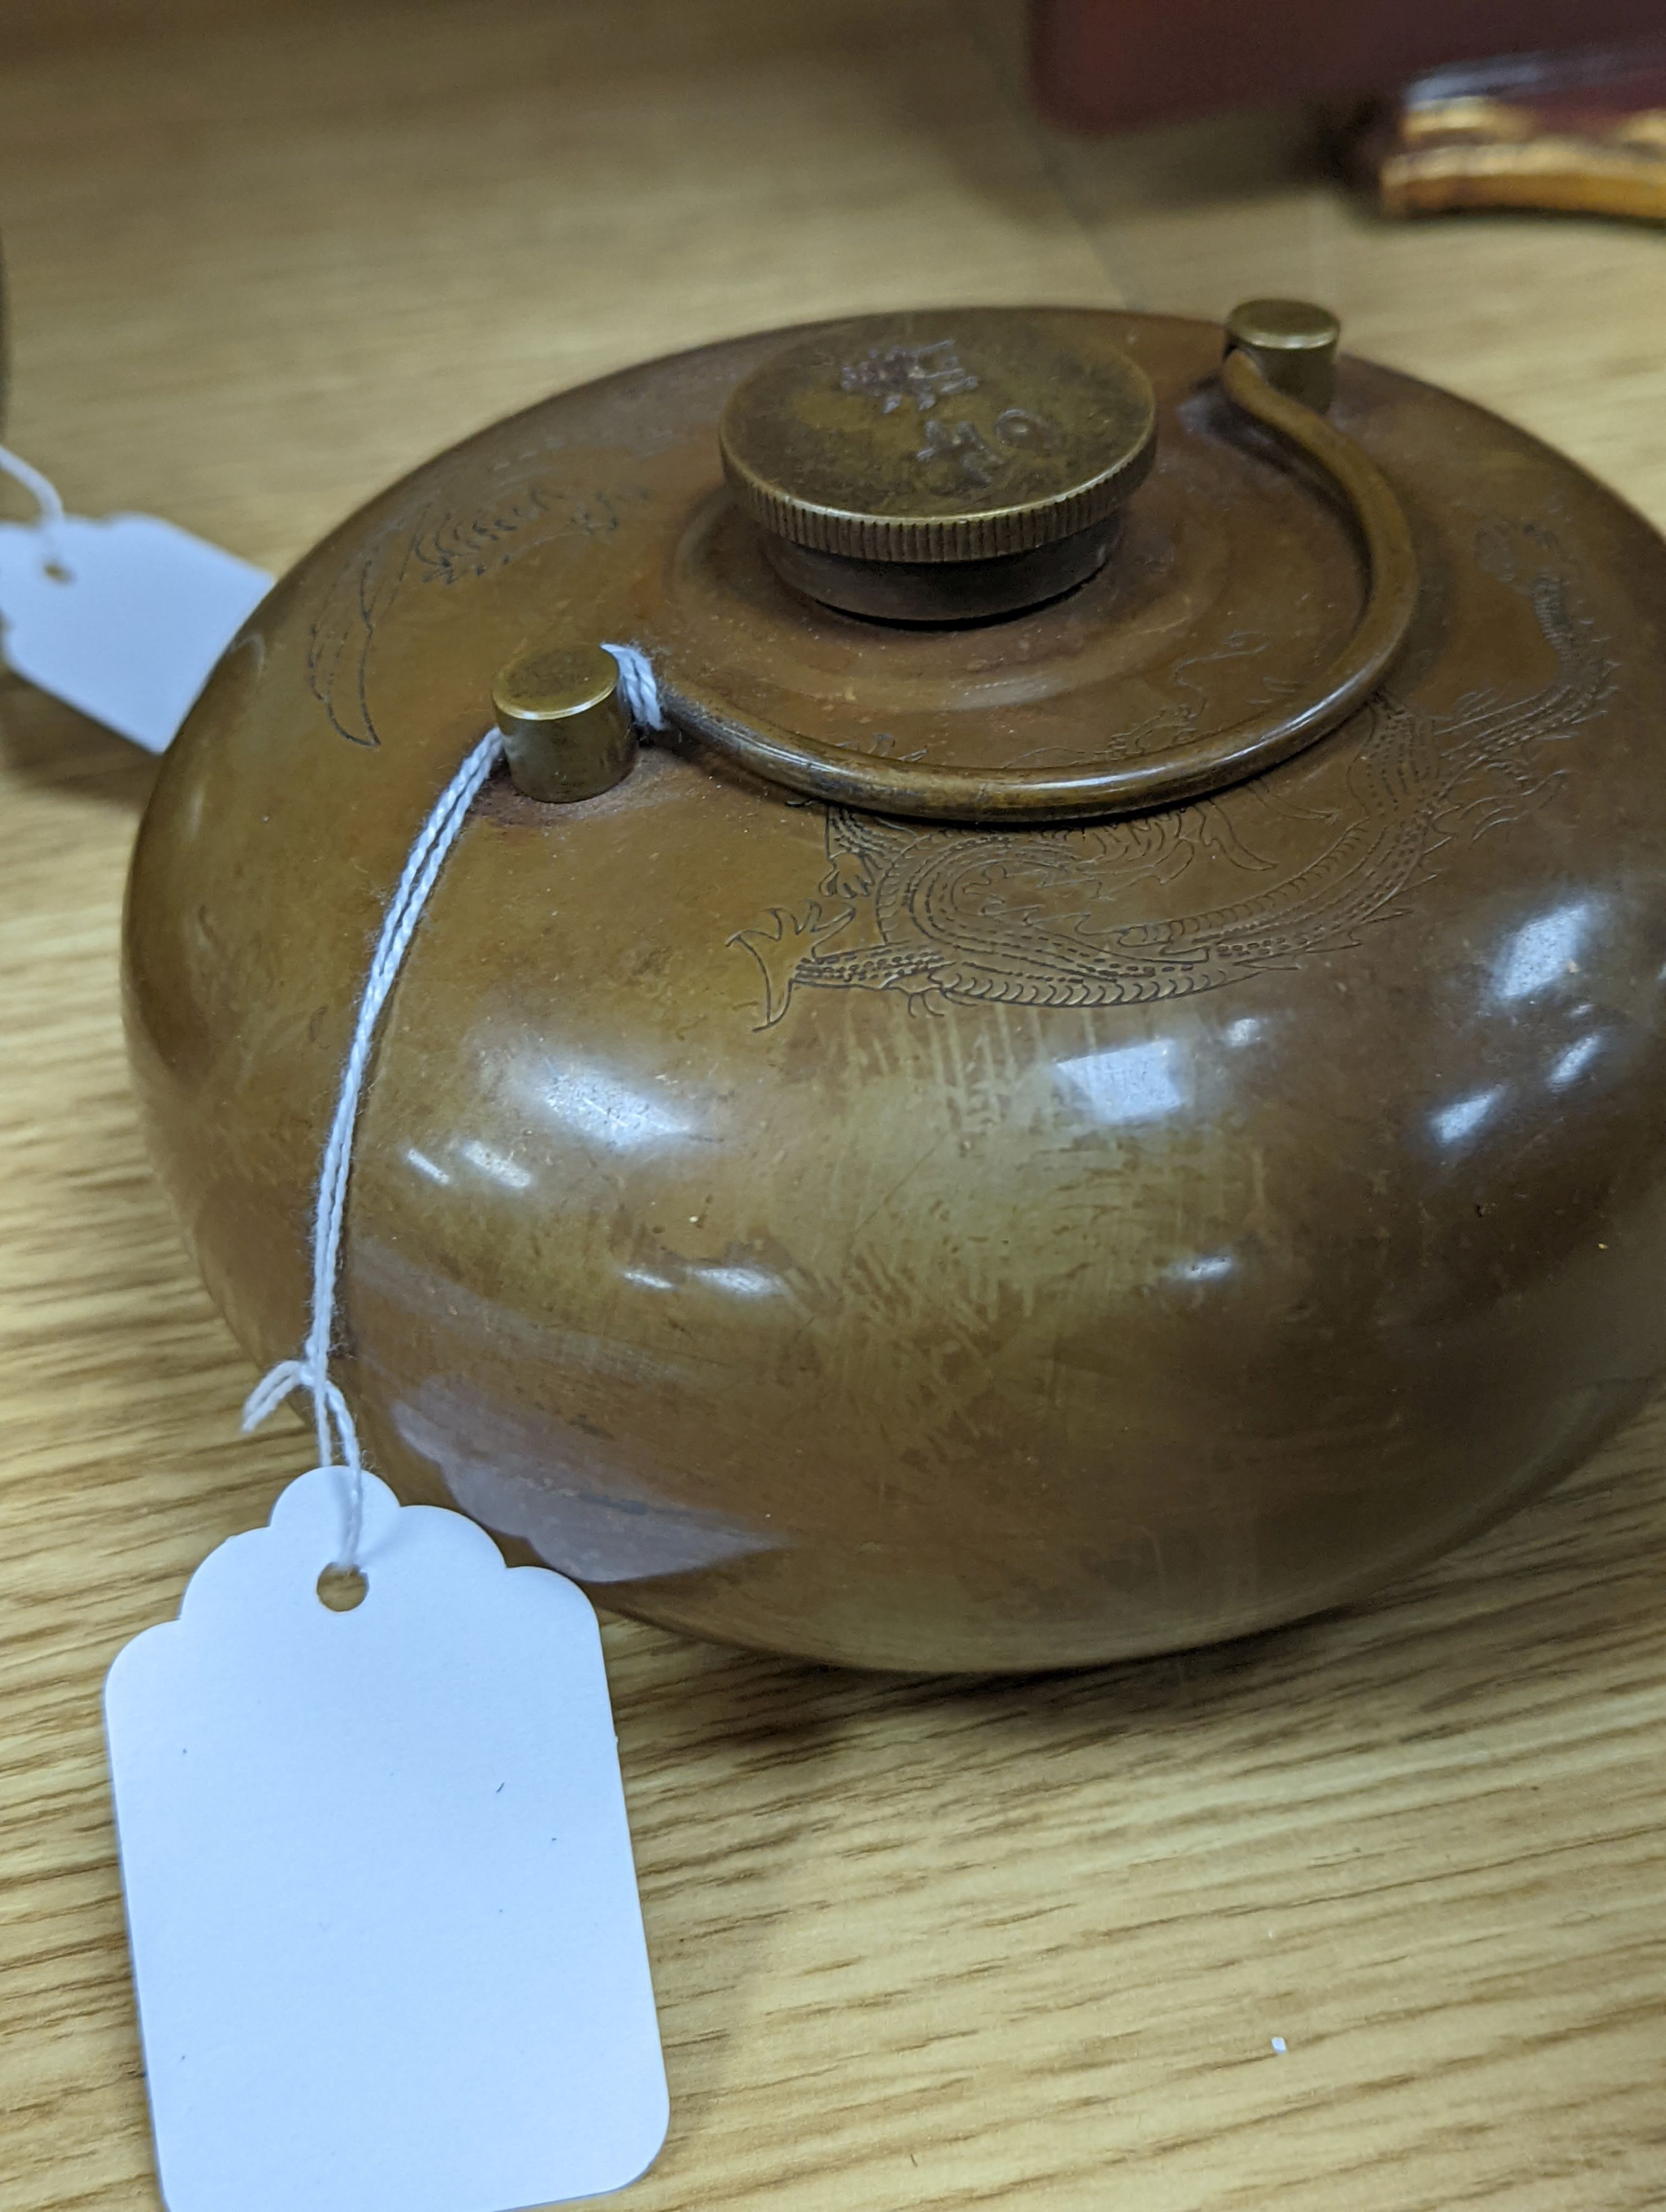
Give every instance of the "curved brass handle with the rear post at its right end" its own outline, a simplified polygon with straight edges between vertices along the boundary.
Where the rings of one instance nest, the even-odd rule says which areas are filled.
[[[1405,641],[1418,602],[1412,531],[1394,489],[1352,438],[1323,418],[1339,325],[1323,307],[1250,301],[1226,325],[1221,392],[1310,460],[1350,513],[1363,555],[1365,611],[1305,697],[1252,714],[1166,754],[1115,768],[931,768],[876,761],[796,730],[741,723],[679,699],[675,668],[659,695],[673,721],[772,783],[872,814],[927,821],[1077,821],[1133,814],[1241,783],[1325,737],[1370,697]]]

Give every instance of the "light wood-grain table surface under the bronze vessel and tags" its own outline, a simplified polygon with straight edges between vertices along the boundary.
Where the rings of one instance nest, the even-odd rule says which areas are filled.
[[[1659,232],[1387,230],[1290,117],[1073,144],[1013,33],[1004,0],[13,0],[11,442],[277,566],[717,334],[1297,290],[1666,522]],[[100,1679],[303,1451],[237,1436],[126,1093],[150,768],[15,679],[0,750],[0,2205],[142,2212]],[[642,2212],[1666,2203],[1659,1413],[1370,1610],[1226,1650],[934,1686],[606,1641],[673,2090]]]

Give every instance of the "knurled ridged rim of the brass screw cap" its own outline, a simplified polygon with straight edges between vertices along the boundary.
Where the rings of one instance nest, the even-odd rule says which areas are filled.
[[[858,515],[839,507],[814,507],[763,482],[719,438],[723,476],[748,515],[777,538],[812,553],[839,553],[872,562],[1000,560],[1002,553],[1033,553],[1077,531],[1093,529],[1144,480],[1155,451],[1157,422],[1146,422],[1139,445],[1115,467],[1075,491],[1029,507],[971,515]]]

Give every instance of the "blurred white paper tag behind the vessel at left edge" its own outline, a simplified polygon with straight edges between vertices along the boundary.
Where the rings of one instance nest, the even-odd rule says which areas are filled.
[[[4,655],[29,684],[166,752],[272,577],[157,515],[0,522]]]

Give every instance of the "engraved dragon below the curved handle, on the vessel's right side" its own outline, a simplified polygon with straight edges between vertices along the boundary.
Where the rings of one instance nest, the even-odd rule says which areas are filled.
[[[1527,533],[1531,540],[1531,531]],[[1542,546],[1540,546],[1542,551]],[[1279,796],[1277,774],[1241,785],[1232,807],[1204,799],[1086,827],[969,832],[827,812],[827,876],[801,907],[774,907],[737,931],[763,975],[763,1024],[808,989],[900,991],[909,1006],[1122,1006],[1212,991],[1358,942],[1451,841],[1474,841],[1542,803],[1573,737],[1611,690],[1593,626],[1569,577],[1513,573],[1513,553],[1482,533],[1482,564],[1522,591],[1555,655],[1527,697],[1478,690],[1449,714],[1376,692],[1347,768],[1347,801],[1330,810]],[[1294,874],[1177,918],[1131,918],[1131,891],[1173,883],[1199,856],[1270,874],[1246,816],[1341,825]]]

